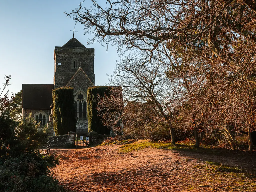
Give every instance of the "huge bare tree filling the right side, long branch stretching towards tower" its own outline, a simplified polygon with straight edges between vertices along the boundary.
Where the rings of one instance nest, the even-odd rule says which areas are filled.
[[[169,121],[178,103],[190,102],[187,123],[194,125],[196,146],[204,122],[223,130],[236,148],[232,131],[237,132],[244,124],[253,128],[251,121],[237,116],[254,116],[254,110],[243,103],[246,97],[250,98],[246,103],[253,103],[246,90],[253,90],[256,83],[256,4],[245,0],[116,0],[106,1],[103,7],[91,1],[91,8],[81,3],[66,13],[93,34],[89,44],[100,41],[117,45],[120,52],[140,50],[147,56],[145,62],[158,61],[157,65],[165,66],[161,71],[169,78],[169,88],[178,85],[178,91],[168,90],[169,99],[174,93],[179,95],[174,94],[172,106],[159,105],[165,119]],[[134,94],[131,98],[136,99],[136,92],[130,92]],[[157,103],[161,97],[156,98]],[[244,111],[243,115],[238,110]]]

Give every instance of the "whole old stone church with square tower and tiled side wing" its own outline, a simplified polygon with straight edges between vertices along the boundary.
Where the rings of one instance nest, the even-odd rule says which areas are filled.
[[[47,126],[49,136],[55,135],[51,116],[52,90],[74,89],[77,133],[88,132],[87,89],[94,86],[94,48],[86,48],[76,38],[54,49],[53,84],[22,84],[22,117],[32,114],[41,127]]]

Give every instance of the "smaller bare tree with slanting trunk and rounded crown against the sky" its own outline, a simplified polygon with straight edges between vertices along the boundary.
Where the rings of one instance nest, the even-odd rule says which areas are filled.
[[[166,67],[158,61],[149,62],[136,55],[123,56],[116,62],[110,84],[122,87],[126,103],[153,102],[155,109],[168,124],[172,143],[175,143],[172,111],[179,105],[183,94],[179,81],[167,78],[165,70]]]

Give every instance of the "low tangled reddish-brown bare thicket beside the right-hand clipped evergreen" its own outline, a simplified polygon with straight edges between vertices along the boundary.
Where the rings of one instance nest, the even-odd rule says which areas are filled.
[[[158,140],[168,138],[165,120],[154,102],[127,101],[120,87],[110,87],[109,94],[98,99],[97,110],[102,123],[111,127],[115,134]]]

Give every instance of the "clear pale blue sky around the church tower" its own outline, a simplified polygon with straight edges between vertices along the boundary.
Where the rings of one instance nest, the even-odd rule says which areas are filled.
[[[99,0],[103,1],[103,0]],[[72,38],[71,29],[84,46],[95,49],[95,85],[108,82],[106,73],[112,73],[118,59],[116,47],[100,43],[87,45],[92,35],[83,35],[84,26],[75,25],[63,12],[78,7],[76,0],[0,0],[0,88],[4,75],[11,75],[9,91],[17,93],[22,83],[53,84],[54,47],[64,45]],[[83,6],[91,6],[85,0]]]

